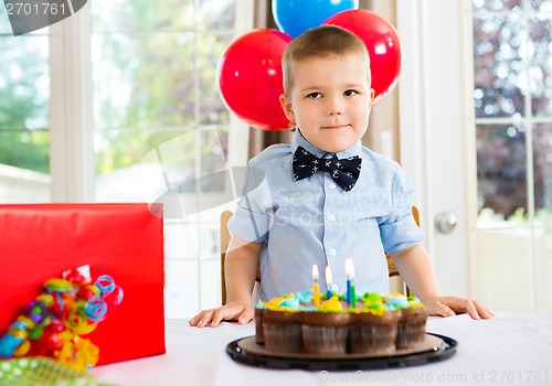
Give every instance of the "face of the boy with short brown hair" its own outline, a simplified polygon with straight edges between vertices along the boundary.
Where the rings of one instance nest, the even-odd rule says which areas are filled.
[[[373,100],[368,56],[309,57],[294,69],[294,85],[280,96],[287,118],[320,150],[352,147],[368,129]]]

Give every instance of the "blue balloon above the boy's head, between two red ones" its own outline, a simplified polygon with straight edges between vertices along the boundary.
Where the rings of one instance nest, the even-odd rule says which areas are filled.
[[[273,0],[276,25],[291,37],[321,25],[338,12],[352,9],[359,9],[359,0]]]

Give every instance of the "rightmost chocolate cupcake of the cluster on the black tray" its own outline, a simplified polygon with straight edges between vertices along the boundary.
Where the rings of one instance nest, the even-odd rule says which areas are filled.
[[[426,335],[427,313],[420,299],[392,293],[385,297],[385,302],[401,310],[401,319],[396,330],[396,349],[417,349],[423,345]]]

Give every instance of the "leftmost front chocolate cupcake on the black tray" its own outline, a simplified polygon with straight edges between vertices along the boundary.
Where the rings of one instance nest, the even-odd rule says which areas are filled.
[[[277,298],[263,303],[263,339],[265,349],[273,352],[298,353],[301,350],[301,314],[299,302]],[[258,342],[258,334],[255,335]]]

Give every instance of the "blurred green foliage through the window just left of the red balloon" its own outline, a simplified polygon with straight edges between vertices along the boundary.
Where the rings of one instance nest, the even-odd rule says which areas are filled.
[[[233,15],[233,1],[211,6],[220,13],[208,18],[198,14],[193,1],[132,0],[113,6],[112,25],[94,19],[95,31],[117,30],[94,40],[102,53],[94,73],[99,174],[140,162],[156,146],[199,126],[227,125],[216,64],[232,30],[210,29],[210,23]]]

